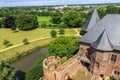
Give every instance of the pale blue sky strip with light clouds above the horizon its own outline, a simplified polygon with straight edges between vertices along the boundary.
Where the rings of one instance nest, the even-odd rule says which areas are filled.
[[[120,0],[0,0],[0,6],[46,6],[94,3],[120,3]]]

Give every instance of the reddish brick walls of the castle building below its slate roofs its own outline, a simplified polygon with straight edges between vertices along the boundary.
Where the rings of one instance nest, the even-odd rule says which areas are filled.
[[[100,77],[103,77],[105,80],[107,80],[106,77],[110,76],[114,76],[117,80],[120,80],[119,51],[103,52],[91,48],[86,44],[81,44],[80,49],[82,50],[82,56],[89,58],[91,63],[88,68],[97,80],[99,80]],[[113,60],[112,55],[114,55]]]

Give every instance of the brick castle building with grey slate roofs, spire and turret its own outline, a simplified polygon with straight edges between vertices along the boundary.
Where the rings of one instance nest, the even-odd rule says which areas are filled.
[[[82,28],[86,32],[80,39],[80,60],[96,77],[120,80],[120,14],[107,14],[99,19],[96,9]]]

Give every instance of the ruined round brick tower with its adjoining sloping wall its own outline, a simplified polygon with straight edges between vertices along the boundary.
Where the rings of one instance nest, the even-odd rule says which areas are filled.
[[[76,54],[64,64],[59,64],[59,58],[52,56],[43,61],[43,80],[67,80],[81,66],[79,54]]]

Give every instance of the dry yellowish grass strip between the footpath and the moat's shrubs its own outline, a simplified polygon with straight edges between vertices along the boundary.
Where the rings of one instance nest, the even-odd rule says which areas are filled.
[[[48,45],[48,43],[50,41],[52,41],[52,40],[53,40],[52,38],[42,39],[42,40],[38,40],[38,41],[35,41],[35,42],[31,42],[28,45],[21,45],[21,46],[18,46],[18,47],[3,51],[3,52],[0,53],[0,59],[5,60],[7,58],[10,58],[10,57],[16,55],[17,53],[23,54],[23,52],[31,50],[31,49],[33,49],[33,48],[35,48],[37,46],[43,47],[45,45]]]

